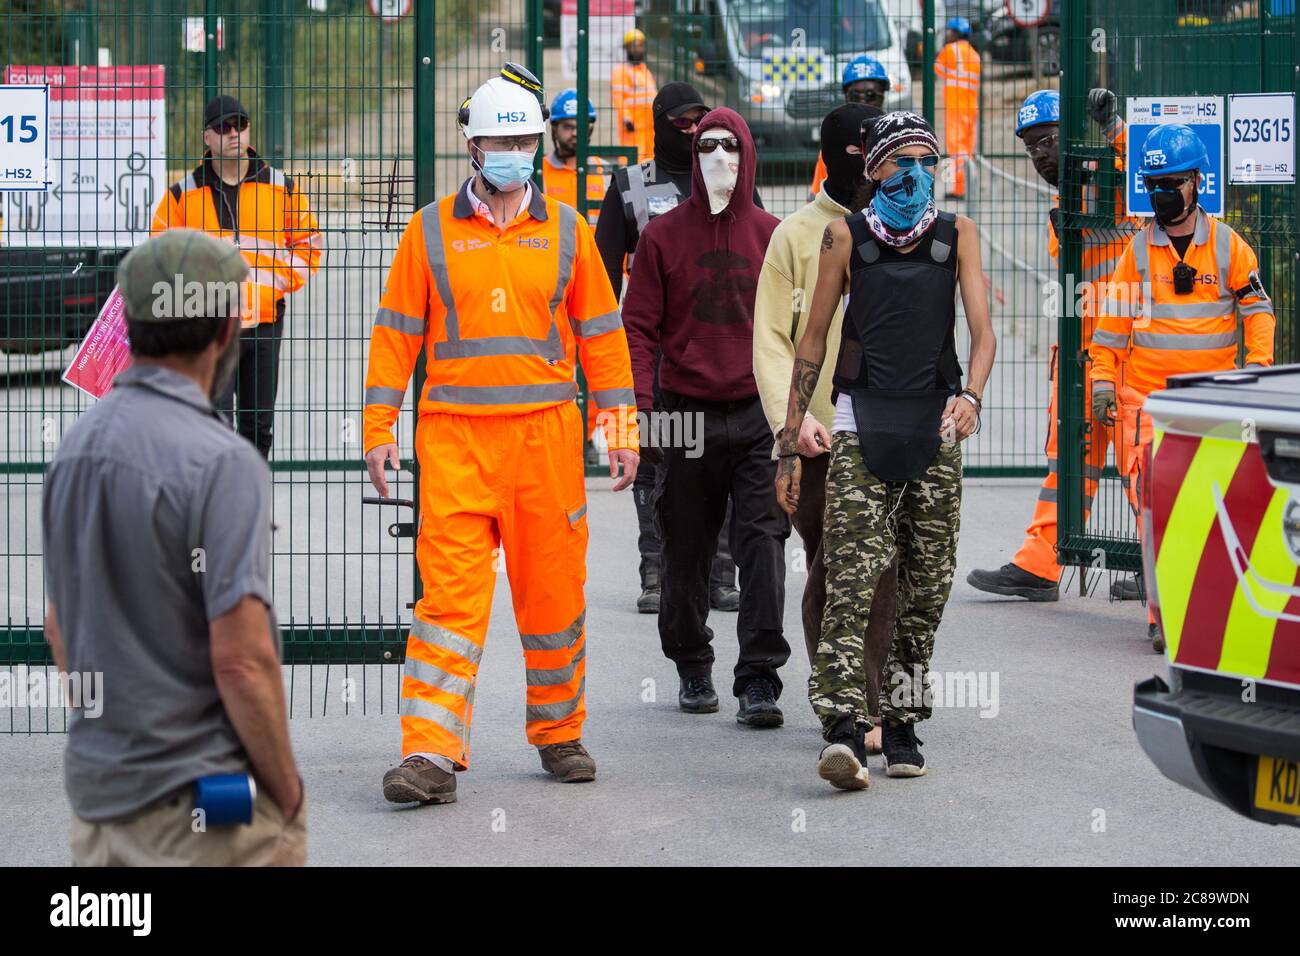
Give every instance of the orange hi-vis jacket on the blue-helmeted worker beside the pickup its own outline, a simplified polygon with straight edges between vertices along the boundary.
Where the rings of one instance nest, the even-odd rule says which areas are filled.
[[[1227,371],[1236,364],[1238,316],[1245,364],[1273,364],[1273,302],[1254,251],[1231,226],[1196,211],[1183,261],[1196,269],[1192,291],[1174,291],[1178,252],[1164,229],[1148,224],[1119,259],[1092,334],[1095,389],[1130,386],[1147,395],[1171,375]],[[1127,362],[1123,381],[1119,364]]]

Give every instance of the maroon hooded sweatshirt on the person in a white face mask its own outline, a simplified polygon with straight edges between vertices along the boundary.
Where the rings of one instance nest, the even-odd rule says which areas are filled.
[[[740,170],[727,208],[714,216],[694,144],[711,129],[740,140]],[[754,206],[754,139],[733,109],[706,113],[692,143],[690,198],[656,216],[637,243],[623,325],[632,352],[637,407],[654,406],[659,382],[712,402],[758,395],[754,381],[754,293],[777,219]]]

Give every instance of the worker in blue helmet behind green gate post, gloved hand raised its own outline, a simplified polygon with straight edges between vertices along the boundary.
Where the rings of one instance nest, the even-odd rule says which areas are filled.
[[[1088,116],[1101,127],[1102,135],[1114,150],[1114,168],[1123,173],[1124,144],[1127,127],[1115,113],[1115,95],[1110,90],[1092,90],[1088,94]],[[1034,163],[1037,174],[1053,189],[1061,178],[1061,96],[1056,90],[1037,90],[1024,98],[1015,120],[1015,135],[1024,142],[1024,151]],[[1097,215],[1104,208],[1098,202],[1098,186],[1092,181],[1093,170],[1084,170],[1083,212]],[[1121,177],[1119,182],[1123,179]],[[1097,303],[1105,294],[1105,284],[1119,256],[1128,246],[1128,239],[1141,226],[1140,220],[1123,215],[1122,186],[1117,189],[1115,221],[1108,229],[1084,229],[1083,238],[1083,281],[1091,285],[1088,293],[1076,302],[1080,312],[1080,350],[1088,351],[1093,325],[1100,311]],[[1061,196],[1053,196],[1052,211],[1048,213],[1048,254],[1053,261],[1060,255]],[[1075,282],[1063,291],[1075,295]],[[1054,316],[1052,316],[1054,319]],[[1023,597],[1030,601],[1057,601],[1061,597],[1061,566],[1057,563],[1057,373],[1061,356],[1052,347],[1050,385],[1048,399],[1048,475],[1039,489],[1034,506],[1034,518],[1024,532],[1024,542],[1010,562],[996,571],[975,570],[966,576],[966,583],[991,594]],[[1084,405],[1091,403],[1091,392],[1084,389]],[[1083,467],[1086,477],[1084,515],[1092,506],[1097,490],[1097,479],[1106,464],[1106,450],[1110,447],[1110,429],[1100,421],[1092,423],[1084,438]],[[1112,584],[1110,594],[1115,600],[1138,600],[1138,583],[1131,578]]]

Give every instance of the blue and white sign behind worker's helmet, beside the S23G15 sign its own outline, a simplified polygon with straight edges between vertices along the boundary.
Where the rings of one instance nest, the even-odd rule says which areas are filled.
[[[1130,216],[1150,216],[1150,196],[1141,178],[1143,143],[1157,126],[1191,126],[1205,143],[1210,163],[1201,170],[1197,204],[1212,216],[1223,215],[1223,98],[1222,96],[1130,96],[1126,101],[1128,151],[1124,156]]]

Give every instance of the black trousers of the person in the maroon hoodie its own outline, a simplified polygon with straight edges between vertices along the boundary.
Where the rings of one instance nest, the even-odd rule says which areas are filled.
[[[758,398],[703,402],[663,392],[667,412],[702,416],[696,450],[664,449],[655,484],[655,520],[663,544],[659,641],[681,676],[712,671],[708,564],[731,496],[731,548],[740,568],[740,617],[732,693],[753,678],[781,691],[777,670],[790,657],[785,641],[785,541],[790,522],[776,503],[772,431]],[[698,457],[688,457],[688,451]]]

